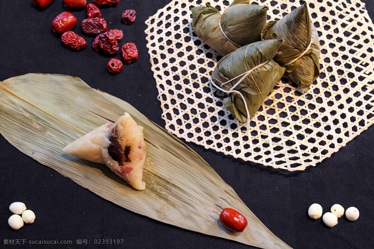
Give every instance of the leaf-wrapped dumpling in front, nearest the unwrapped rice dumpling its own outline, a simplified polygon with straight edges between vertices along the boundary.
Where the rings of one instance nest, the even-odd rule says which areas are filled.
[[[286,68],[272,58],[284,39],[258,41],[223,57],[212,73],[224,106],[239,122],[246,123],[282,78]],[[248,118],[249,115],[249,118]]]

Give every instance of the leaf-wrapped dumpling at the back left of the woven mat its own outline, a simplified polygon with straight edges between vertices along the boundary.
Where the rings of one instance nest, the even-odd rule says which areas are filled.
[[[233,1],[222,15],[209,4],[193,7],[192,29],[202,41],[225,56],[238,47],[261,40],[266,10],[267,7],[249,4],[248,0]]]

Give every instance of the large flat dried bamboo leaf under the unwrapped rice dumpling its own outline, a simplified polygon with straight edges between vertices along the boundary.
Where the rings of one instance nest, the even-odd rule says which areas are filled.
[[[147,159],[143,191],[133,189],[105,165],[62,152],[68,143],[115,121],[124,112],[144,127]],[[196,152],[128,103],[92,89],[79,78],[27,74],[0,82],[0,132],[38,162],[138,214],[260,248],[290,248]],[[243,233],[230,232],[218,221],[226,207],[247,218]]]

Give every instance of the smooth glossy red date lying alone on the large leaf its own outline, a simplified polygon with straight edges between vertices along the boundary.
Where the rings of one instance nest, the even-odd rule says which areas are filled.
[[[225,208],[220,214],[221,223],[236,232],[244,231],[248,225],[247,219],[238,211],[232,208]]]

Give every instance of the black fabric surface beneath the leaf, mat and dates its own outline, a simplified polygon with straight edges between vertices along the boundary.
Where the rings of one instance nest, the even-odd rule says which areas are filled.
[[[102,8],[109,28],[122,29],[126,42],[134,42],[139,59],[111,75],[106,65],[110,56],[93,51],[94,37],[82,34],[77,17],[74,32],[85,37],[88,47],[74,52],[62,46],[50,29],[52,19],[67,9],[55,0],[40,10],[30,0],[0,1],[0,81],[30,72],[67,74],[81,78],[93,88],[126,100],[152,121],[165,127],[157,100],[146,48],[144,24],[148,16],[171,0],[121,0],[119,6]],[[371,18],[374,1],[364,0]],[[92,0],[88,0],[92,3]],[[296,4],[296,3],[295,3]],[[296,4],[298,5],[298,3]],[[120,22],[125,9],[135,9],[131,25]],[[114,56],[120,59],[120,53]],[[243,202],[280,239],[294,249],[373,248],[374,127],[362,132],[346,147],[315,167],[303,172],[244,162],[202,146],[188,143],[233,187]],[[252,248],[230,240],[184,230],[117,206],[34,161],[0,136],[0,248]],[[34,224],[15,231],[7,224],[12,202],[24,202],[36,214]],[[355,206],[360,217],[350,222],[342,217],[338,225],[326,227],[322,219],[307,215],[312,203],[324,212],[339,203]],[[191,211],[193,212],[193,211]],[[123,239],[122,245],[95,245],[95,239]],[[21,240],[21,245],[4,245]],[[26,243],[22,245],[22,240]],[[32,245],[29,240],[71,240],[71,245]],[[87,240],[79,245],[77,240]]]

